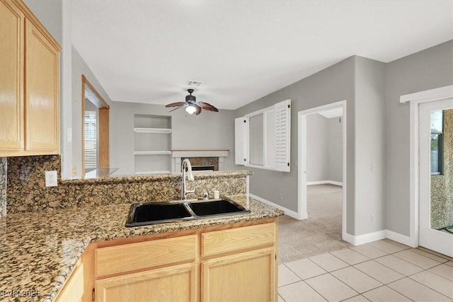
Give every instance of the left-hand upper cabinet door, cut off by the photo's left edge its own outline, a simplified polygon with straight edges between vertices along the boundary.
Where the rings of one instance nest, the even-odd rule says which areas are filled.
[[[23,150],[23,20],[12,1],[0,1],[0,156]]]

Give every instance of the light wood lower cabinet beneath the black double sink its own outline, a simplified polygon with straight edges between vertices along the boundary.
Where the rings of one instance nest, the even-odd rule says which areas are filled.
[[[84,301],[277,301],[276,234],[267,219],[91,243]]]

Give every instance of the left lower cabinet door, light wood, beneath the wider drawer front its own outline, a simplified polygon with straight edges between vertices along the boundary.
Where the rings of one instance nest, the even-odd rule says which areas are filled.
[[[176,265],[96,281],[96,301],[196,301],[197,265]]]

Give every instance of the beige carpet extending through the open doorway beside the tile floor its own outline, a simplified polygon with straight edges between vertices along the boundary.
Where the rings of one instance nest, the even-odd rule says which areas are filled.
[[[307,191],[308,219],[280,217],[280,263],[352,246],[341,240],[342,187],[309,185]]]

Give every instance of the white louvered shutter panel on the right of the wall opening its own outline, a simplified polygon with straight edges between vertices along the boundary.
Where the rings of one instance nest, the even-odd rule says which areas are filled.
[[[274,170],[289,172],[291,140],[291,100],[275,104],[275,162]]]

